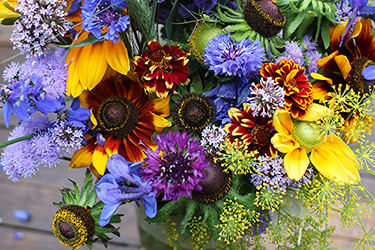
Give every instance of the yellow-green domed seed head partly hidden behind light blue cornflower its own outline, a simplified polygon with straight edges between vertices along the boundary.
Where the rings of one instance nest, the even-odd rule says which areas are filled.
[[[216,23],[200,23],[194,30],[189,40],[189,48],[200,63],[203,64],[205,61],[203,57],[204,48],[208,46],[208,42],[212,38],[224,34],[222,29],[223,27]]]

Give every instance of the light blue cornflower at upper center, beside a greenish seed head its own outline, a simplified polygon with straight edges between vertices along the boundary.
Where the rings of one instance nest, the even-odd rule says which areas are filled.
[[[226,34],[214,37],[205,47],[203,57],[216,75],[245,77],[249,71],[262,67],[265,54],[258,40],[232,42],[230,34]]]

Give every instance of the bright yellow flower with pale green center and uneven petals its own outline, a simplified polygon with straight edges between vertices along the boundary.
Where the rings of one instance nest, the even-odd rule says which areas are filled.
[[[289,178],[300,180],[311,162],[320,174],[335,182],[360,181],[359,164],[349,146],[336,135],[323,135],[315,128],[315,122],[329,112],[330,109],[313,104],[302,120],[296,120],[286,110],[276,111],[273,124],[278,133],[271,142],[285,154],[284,166]]]

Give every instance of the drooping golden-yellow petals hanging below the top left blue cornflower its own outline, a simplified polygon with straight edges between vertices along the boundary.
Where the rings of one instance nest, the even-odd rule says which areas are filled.
[[[88,35],[88,32],[82,32],[76,43],[87,39]],[[103,79],[109,67],[123,75],[130,69],[128,51],[122,41],[102,41],[72,47],[65,63],[69,64],[67,94],[73,97],[79,96],[83,90],[92,90]]]

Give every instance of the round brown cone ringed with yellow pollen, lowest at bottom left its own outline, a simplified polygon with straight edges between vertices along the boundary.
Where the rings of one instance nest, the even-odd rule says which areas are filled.
[[[95,220],[78,205],[62,207],[53,219],[53,232],[59,241],[71,248],[80,248],[95,234]]]

